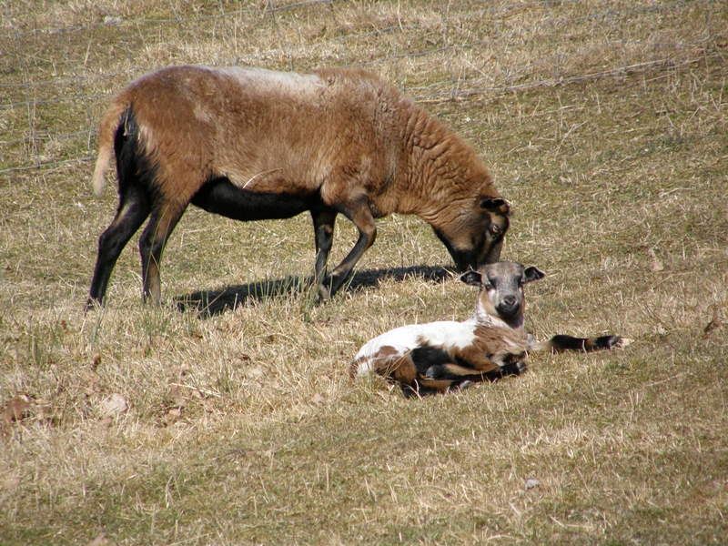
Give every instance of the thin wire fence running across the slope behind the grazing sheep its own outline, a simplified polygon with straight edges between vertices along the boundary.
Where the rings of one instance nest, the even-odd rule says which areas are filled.
[[[93,159],[110,96],[161,66],[360,66],[440,101],[728,53],[724,0],[23,4],[0,25],[0,174]]]

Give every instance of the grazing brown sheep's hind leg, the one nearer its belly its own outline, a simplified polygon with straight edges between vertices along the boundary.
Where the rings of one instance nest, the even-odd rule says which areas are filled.
[[[139,239],[139,253],[142,258],[142,278],[144,279],[144,300],[152,298],[159,305],[162,300],[161,280],[159,278],[159,263],[162,260],[167,239],[177,226],[179,218],[186,207],[179,207],[173,203],[166,203],[156,207],[152,217]]]

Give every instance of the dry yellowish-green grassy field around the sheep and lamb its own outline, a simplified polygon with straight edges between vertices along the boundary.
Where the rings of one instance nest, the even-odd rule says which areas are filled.
[[[481,6],[5,3],[0,543],[725,543],[728,8],[635,10],[611,26],[580,11],[605,4],[669,6],[493,10],[500,35],[522,32],[490,42],[490,19],[456,18],[448,44],[484,37],[453,51],[431,22]],[[698,47],[706,14],[718,37]],[[387,25],[399,34],[375,32]],[[656,29],[693,45],[644,63]],[[590,44],[599,33],[622,48]],[[560,85],[537,62],[554,51]],[[614,71],[612,56],[634,67]],[[537,355],[520,378],[426,399],[351,381],[367,339],[470,315],[474,289],[416,217],[380,221],[349,289],[314,307],[298,289],[308,217],[190,209],[162,308],[141,303],[134,238],[107,307],[84,314],[116,209],[112,188],[89,187],[86,128],[136,67],[371,58],[479,150],[511,201],[502,258],[547,273],[527,288],[536,337],[613,332],[632,346]],[[530,71],[503,70],[528,58]],[[355,237],[339,221],[332,260]]]

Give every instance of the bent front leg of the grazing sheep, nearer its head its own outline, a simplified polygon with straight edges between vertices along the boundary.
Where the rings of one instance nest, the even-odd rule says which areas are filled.
[[[319,291],[320,299],[328,299],[339,291],[339,288],[344,285],[351,275],[351,271],[354,270],[359,258],[374,244],[374,240],[377,238],[377,226],[374,224],[374,217],[371,216],[369,198],[366,194],[350,199],[346,206],[341,207],[340,212],[359,228],[359,239],[357,239],[354,248],[351,248],[347,257],[341,260],[341,263],[321,286]]]

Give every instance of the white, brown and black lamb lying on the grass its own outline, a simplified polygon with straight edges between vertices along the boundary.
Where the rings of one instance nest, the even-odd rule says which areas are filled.
[[[619,336],[572,338],[556,335],[537,343],[523,325],[523,285],[543,278],[539,268],[498,262],[460,276],[480,288],[475,311],[464,322],[402,326],[371,339],[349,367],[352,377],[376,372],[399,382],[405,395],[445,393],[474,381],[519,375],[527,353],[592,351],[626,347]]]

